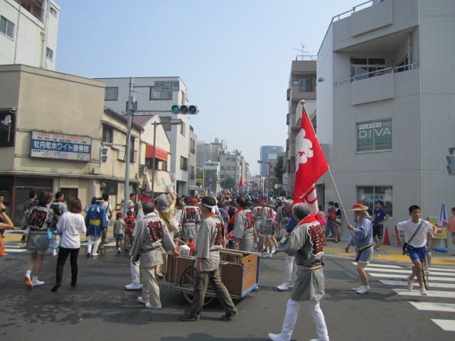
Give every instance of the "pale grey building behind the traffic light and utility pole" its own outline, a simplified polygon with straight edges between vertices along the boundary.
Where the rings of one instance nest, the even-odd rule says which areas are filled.
[[[97,78],[106,84],[105,106],[116,112],[125,111],[129,98],[129,77]],[[134,92],[137,114],[150,112],[159,114],[161,122],[181,119],[180,125],[164,124],[164,130],[171,141],[171,178],[176,193],[188,194],[188,169],[190,153],[190,119],[186,114],[173,114],[171,107],[187,104],[186,85],[180,77],[137,77],[134,78]]]

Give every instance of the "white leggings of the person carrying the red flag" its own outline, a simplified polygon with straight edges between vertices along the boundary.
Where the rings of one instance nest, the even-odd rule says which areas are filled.
[[[299,310],[303,302],[297,302],[291,300],[287,301],[286,315],[284,315],[283,328],[282,328],[282,340],[291,340],[294,326],[299,316]],[[319,306],[319,300],[308,301],[308,308],[311,315],[313,316],[314,324],[316,325],[316,333],[318,334],[319,341],[329,341],[328,331],[326,326],[326,320],[322,313],[321,307]]]

